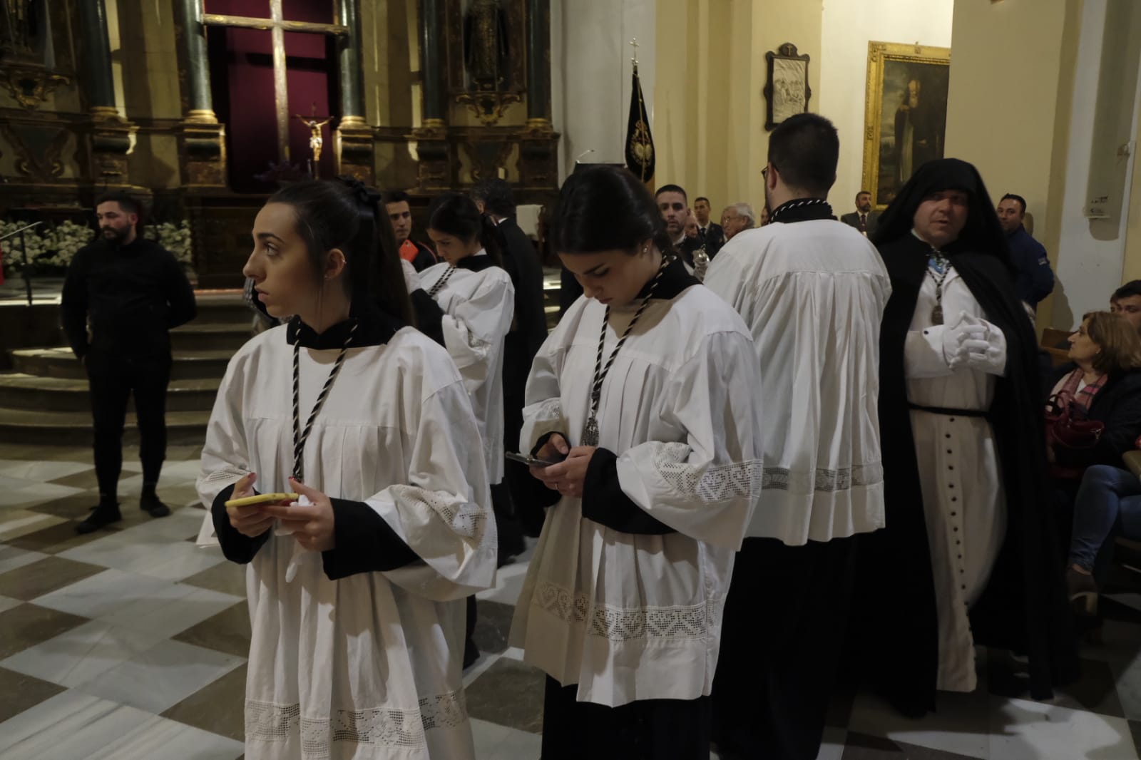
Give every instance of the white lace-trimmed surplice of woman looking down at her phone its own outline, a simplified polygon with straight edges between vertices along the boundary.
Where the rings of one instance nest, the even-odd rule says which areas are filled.
[[[637,306],[637,305],[636,305]],[[540,349],[520,448],[549,430],[581,439],[605,307],[580,298]],[[633,316],[615,310],[605,356]],[[602,387],[599,445],[622,491],[678,531],[622,533],[550,508],[511,641],[578,700],[710,693],[734,552],[760,491],[756,358],[741,318],[702,285],[653,300]]]

